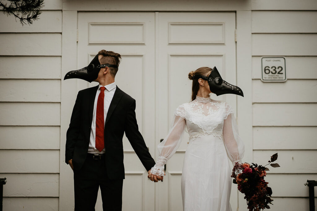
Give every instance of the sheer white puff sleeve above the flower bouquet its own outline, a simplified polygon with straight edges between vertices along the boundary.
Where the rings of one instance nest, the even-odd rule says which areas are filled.
[[[232,164],[240,162],[244,155],[244,144],[239,136],[236,118],[229,104],[225,106],[225,119],[223,121],[223,142]]]

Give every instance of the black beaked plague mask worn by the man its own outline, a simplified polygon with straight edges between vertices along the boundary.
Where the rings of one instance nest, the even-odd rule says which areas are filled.
[[[80,70],[69,71],[65,75],[64,80],[69,78],[79,78],[91,83],[92,81],[98,78],[99,71],[103,67],[113,67],[117,69],[119,68],[119,66],[117,65],[110,65],[110,64],[100,65],[98,54],[97,54],[94,57],[94,59],[91,60],[91,62],[89,63],[87,67],[81,68]]]

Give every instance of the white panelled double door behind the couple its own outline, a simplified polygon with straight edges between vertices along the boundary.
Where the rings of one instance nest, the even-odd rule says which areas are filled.
[[[214,67],[229,83],[236,81],[235,13],[212,12],[80,12],[78,68],[99,50],[120,53],[116,84],[136,99],[139,130],[152,157],[168,133],[174,110],[191,100],[188,73]],[[90,86],[77,81],[77,89]],[[236,96],[213,96],[236,107]],[[123,210],[182,210],[180,178],[188,136],[166,166],[164,182],[153,183],[124,138],[126,179]],[[232,191],[231,205],[237,194]],[[98,196],[96,210],[102,210]]]

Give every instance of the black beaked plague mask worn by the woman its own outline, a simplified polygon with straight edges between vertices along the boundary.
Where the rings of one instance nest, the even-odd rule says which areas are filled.
[[[212,68],[211,73],[208,77],[202,75],[194,75],[194,78],[202,78],[208,81],[210,91],[212,93],[215,93],[217,96],[223,94],[235,94],[243,96],[243,91],[239,87],[229,84],[221,78],[216,67]]]

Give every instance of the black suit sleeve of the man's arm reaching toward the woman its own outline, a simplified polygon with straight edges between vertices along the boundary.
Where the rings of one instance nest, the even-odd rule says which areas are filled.
[[[135,100],[130,104],[129,109],[126,115],[126,124],[125,124],[126,137],[130,141],[130,144],[141,160],[142,164],[146,168],[146,171],[149,171],[155,161],[151,157],[150,152],[148,151],[144,139],[139,132],[138,123],[135,116]]]

